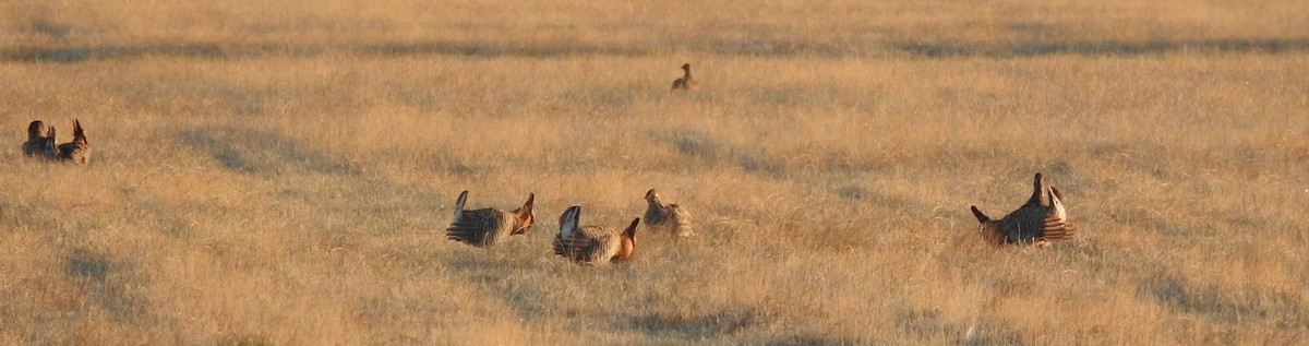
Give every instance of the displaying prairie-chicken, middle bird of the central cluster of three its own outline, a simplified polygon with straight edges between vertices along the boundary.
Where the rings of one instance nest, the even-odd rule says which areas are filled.
[[[555,235],[555,254],[583,265],[605,265],[610,261],[627,261],[636,250],[636,218],[626,229],[596,225],[579,227],[581,206],[572,206],[559,215],[559,235]]]

